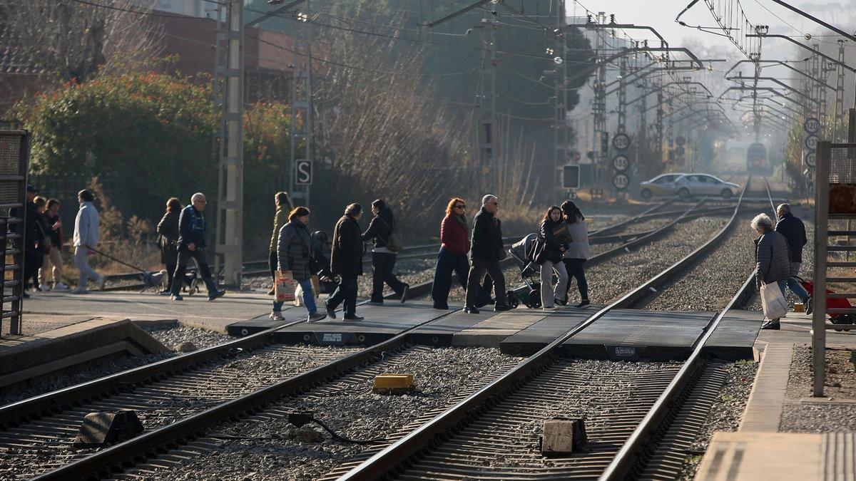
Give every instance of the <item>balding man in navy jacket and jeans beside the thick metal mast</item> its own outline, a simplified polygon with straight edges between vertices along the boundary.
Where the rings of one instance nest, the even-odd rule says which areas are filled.
[[[184,279],[187,262],[191,258],[196,259],[196,264],[199,264],[199,274],[205,281],[205,287],[208,288],[208,300],[215,300],[226,294],[226,291],[217,289],[217,282],[211,278],[211,270],[208,269],[208,260],[205,258],[205,228],[208,224],[205,223],[205,215],[202,211],[205,210],[207,202],[204,193],[194,193],[190,198],[190,205],[182,209],[178,217],[178,258],[172,282],[172,295],[169,296],[171,300],[184,300],[180,294],[181,282],[175,282],[175,279]]]

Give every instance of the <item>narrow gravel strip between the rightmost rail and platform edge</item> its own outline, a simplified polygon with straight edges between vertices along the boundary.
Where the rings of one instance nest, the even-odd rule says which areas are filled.
[[[758,373],[758,364],[752,361],[737,361],[728,363],[722,361],[711,361],[720,369],[728,371],[728,377],[716,402],[707,413],[704,426],[698,431],[698,435],[691,446],[691,454],[687,454],[681,469],[683,481],[692,481],[698,466],[701,465],[702,454],[710,444],[710,438],[715,431],[737,431],[740,427],[740,419],[746,410],[746,402],[752,393],[752,383]],[[698,453],[698,454],[697,454]]]

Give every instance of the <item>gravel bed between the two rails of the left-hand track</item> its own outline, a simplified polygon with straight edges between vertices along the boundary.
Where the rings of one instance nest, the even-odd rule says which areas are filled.
[[[98,452],[99,448],[71,448],[80,420],[86,413],[133,406],[146,430],[152,430],[357,350],[273,345],[253,352],[237,352],[232,358],[212,362],[197,371],[92,401],[83,407],[73,407],[61,414],[36,420],[33,425],[11,428],[0,432],[0,458],[9,466],[5,470],[0,468],[0,479],[32,478],[80,455]],[[12,439],[30,438],[32,429],[45,425],[53,426],[54,436],[39,438],[39,442],[32,442],[30,446],[4,439],[7,436]]]

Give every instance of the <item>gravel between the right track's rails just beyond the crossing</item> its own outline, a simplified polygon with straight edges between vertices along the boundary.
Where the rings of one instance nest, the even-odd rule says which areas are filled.
[[[660,289],[662,294],[644,307],[649,311],[720,311],[755,268],[755,238],[748,223],[752,216],[742,214],[734,220],[736,225],[722,244],[717,246],[690,271],[675,282]],[[721,225],[711,226],[708,234],[715,233]]]

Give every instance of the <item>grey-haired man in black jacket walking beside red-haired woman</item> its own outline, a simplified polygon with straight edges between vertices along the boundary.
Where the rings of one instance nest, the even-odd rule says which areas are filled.
[[[493,280],[496,292],[494,311],[508,311],[511,308],[505,302],[505,276],[499,266],[499,261],[505,258],[505,247],[502,245],[502,223],[496,218],[496,211],[499,211],[499,200],[494,195],[485,195],[482,208],[473,223],[473,248],[470,251],[473,266],[467,278],[467,306],[464,312],[479,313],[476,300],[479,297],[479,281],[485,272]]]

